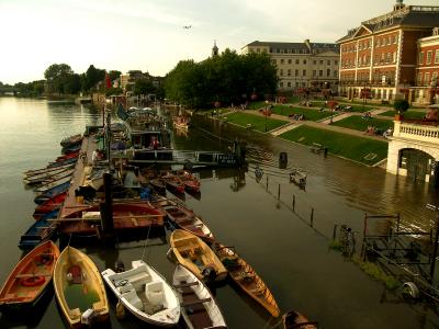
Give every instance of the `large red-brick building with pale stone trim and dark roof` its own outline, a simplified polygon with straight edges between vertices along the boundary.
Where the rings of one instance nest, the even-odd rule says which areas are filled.
[[[439,7],[405,5],[361,23],[340,45],[339,94],[349,99],[414,101],[417,43],[439,24]]]

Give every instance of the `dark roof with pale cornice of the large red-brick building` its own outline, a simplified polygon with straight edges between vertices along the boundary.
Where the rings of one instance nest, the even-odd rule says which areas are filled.
[[[401,10],[362,22],[360,26],[349,30],[348,34],[339,38],[337,43],[356,38],[357,32],[362,27],[375,34],[392,27],[432,29],[438,25],[439,7],[407,5]]]

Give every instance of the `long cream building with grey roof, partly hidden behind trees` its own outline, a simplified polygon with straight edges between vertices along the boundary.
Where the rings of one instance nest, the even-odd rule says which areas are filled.
[[[267,53],[278,68],[280,91],[299,88],[331,88],[337,90],[339,46],[330,43],[252,42],[243,54]]]

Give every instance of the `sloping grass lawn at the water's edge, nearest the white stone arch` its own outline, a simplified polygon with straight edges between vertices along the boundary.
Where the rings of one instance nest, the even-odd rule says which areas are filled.
[[[361,138],[337,132],[300,126],[280,135],[281,138],[312,146],[322,144],[328,152],[345,157],[364,164],[374,164],[387,157],[387,143]]]

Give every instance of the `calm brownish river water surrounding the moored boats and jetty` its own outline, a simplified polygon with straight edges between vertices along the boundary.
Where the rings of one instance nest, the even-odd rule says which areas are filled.
[[[22,257],[20,236],[34,220],[34,192],[22,183],[22,172],[45,166],[60,152],[59,141],[102,122],[101,112],[46,100],[0,98],[0,281]],[[438,192],[425,183],[387,174],[300,145],[271,138],[209,117],[194,117],[189,134],[175,134],[178,149],[226,150],[233,140],[247,145],[249,166],[243,170],[202,170],[201,197],[185,203],[201,215],[215,237],[235,246],[263,277],[282,313],[301,311],[322,328],[439,328],[438,310],[406,304],[397,293],[367,276],[339,252],[328,249],[334,225],[346,224],[361,237],[364,213],[401,214],[402,227],[430,229]],[[279,169],[279,154],[288,154],[288,169],[307,172],[306,191],[291,184]],[[258,182],[255,167],[263,171]],[[280,200],[278,201],[278,193]],[[169,196],[172,196],[171,194]],[[295,198],[295,213],[291,211]],[[313,213],[313,228],[309,227]],[[122,260],[127,268],[143,256],[167,279],[173,264],[166,258],[169,232],[109,248],[89,241],[78,246],[100,270]],[[229,328],[273,328],[272,319],[233,284],[214,287]],[[48,292],[37,310],[25,317],[1,314],[0,328],[64,328],[66,325]],[[50,295],[52,294],[52,295]],[[109,296],[110,296],[109,292]],[[114,300],[112,300],[114,302]],[[112,303],[114,308],[114,303]],[[111,328],[143,326],[132,317]],[[279,327],[280,328],[280,327]]]

